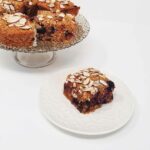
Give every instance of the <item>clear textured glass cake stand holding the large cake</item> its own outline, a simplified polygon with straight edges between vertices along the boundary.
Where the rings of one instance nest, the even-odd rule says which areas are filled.
[[[17,49],[1,45],[2,49],[15,52],[15,60],[22,66],[30,68],[41,68],[51,64],[55,58],[56,51],[69,48],[87,37],[90,31],[90,25],[86,18],[82,15],[76,17],[78,29],[75,39],[70,43],[48,43],[38,42],[38,46],[30,49]]]

